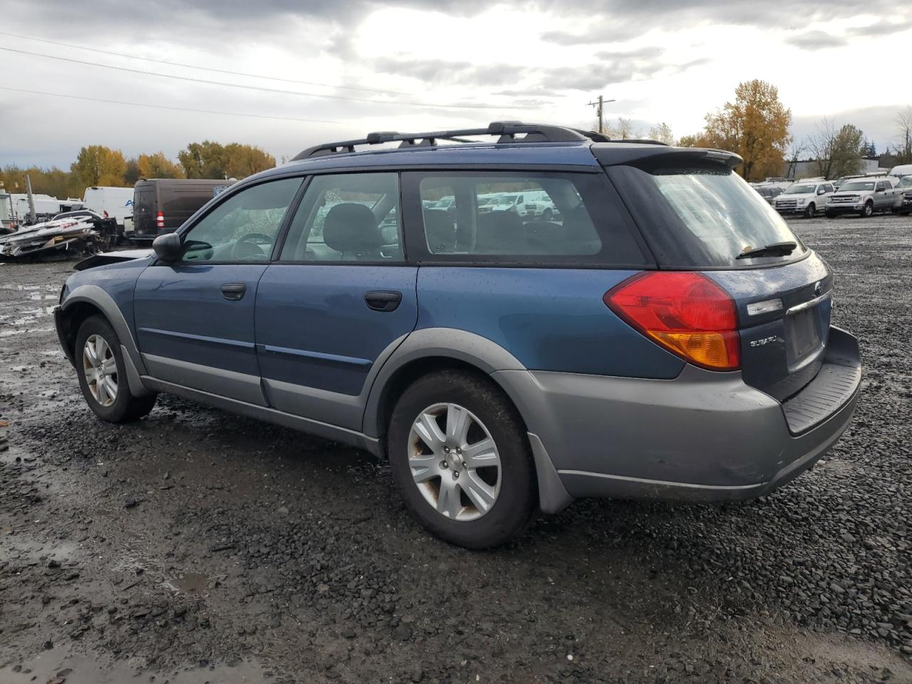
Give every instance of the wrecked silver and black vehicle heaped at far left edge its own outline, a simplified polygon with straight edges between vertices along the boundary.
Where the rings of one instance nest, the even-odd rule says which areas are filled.
[[[53,259],[96,254],[113,244],[116,224],[98,217],[60,215],[0,237],[0,260]]]

